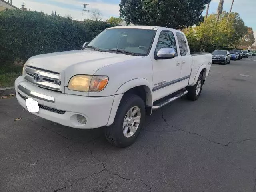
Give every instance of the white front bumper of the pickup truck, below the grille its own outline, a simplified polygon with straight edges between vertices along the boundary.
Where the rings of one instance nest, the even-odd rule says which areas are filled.
[[[88,97],[63,94],[40,88],[25,81],[23,76],[15,80],[18,102],[25,109],[25,99],[38,101],[39,112],[35,115],[64,126],[91,129],[113,123],[116,109],[123,94],[106,97]],[[29,91],[29,92],[28,92]],[[86,124],[78,122],[76,116],[86,117]]]

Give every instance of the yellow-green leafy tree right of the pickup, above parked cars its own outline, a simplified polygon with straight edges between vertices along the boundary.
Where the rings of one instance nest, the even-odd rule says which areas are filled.
[[[188,38],[190,50],[212,52],[212,50],[229,46],[237,48],[241,43],[247,28],[239,14],[231,12],[228,23],[226,22],[228,18],[227,12],[223,12],[220,15],[219,22],[216,21],[216,16],[217,14],[210,14],[206,21],[199,26],[183,30]]]

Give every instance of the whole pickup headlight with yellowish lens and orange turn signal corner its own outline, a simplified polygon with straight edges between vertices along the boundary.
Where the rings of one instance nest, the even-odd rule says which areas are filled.
[[[76,75],[70,79],[68,89],[83,92],[99,92],[107,84],[107,76]]]

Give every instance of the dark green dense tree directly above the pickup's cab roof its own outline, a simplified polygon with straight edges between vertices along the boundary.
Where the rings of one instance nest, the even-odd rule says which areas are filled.
[[[121,0],[120,18],[128,24],[185,28],[204,20],[210,0]]]

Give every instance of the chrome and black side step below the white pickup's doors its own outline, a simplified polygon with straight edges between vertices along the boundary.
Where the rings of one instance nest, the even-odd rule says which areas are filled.
[[[174,100],[186,95],[187,93],[188,93],[187,90],[180,90],[180,91],[176,92],[175,94],[171,94],[169,96],[166,96],[164,100],[160,99],[158,101],[155,101],[153,103],[152,109],[153,110],[159,109],[159,108],[167,105],[168,103],[173,102]]]

